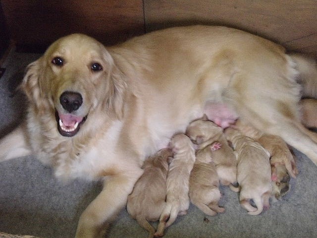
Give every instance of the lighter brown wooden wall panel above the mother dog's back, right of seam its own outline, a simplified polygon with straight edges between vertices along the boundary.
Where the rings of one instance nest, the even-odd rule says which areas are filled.
[[[317,55],[316,0],[144,0],[146,30],[226,25]]]

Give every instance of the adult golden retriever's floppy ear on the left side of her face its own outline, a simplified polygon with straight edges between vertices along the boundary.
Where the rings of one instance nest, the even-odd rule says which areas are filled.
[[[43,97],[43,93],[40,87],[40,77],[42,75],[41,68],[41,58],[30,63],[27,68],[23,78],[20,89],[24,91],[28,100],[36,105],[38,108],[41,106],[40,104],[44,101],[41,100]]]

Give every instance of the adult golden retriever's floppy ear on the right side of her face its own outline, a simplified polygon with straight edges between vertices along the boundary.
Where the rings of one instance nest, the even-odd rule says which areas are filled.
[[[126,91],[124,74],[115,65],[110,54],[105,51],[104,57],[107,62],[107,97],[106,110],[110,115],[115,115],[118,119],[123,117],[123,101]]]

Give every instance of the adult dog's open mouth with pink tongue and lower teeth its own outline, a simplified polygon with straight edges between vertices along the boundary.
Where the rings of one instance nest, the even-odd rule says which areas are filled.
[[[58,132],[62,136],[74,136],[80,129],[80,125],[87,119],[85,117],[78,117],[71,114],[60,114],[55,111],[55,118],[57,121]]]

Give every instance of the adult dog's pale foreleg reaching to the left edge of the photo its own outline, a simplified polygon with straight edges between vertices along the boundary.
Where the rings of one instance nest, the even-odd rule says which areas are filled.
[[[27,156],[32,153],[22,125],[5,135],[0,140],[0,162]]]

